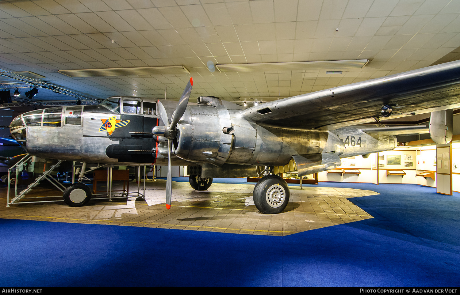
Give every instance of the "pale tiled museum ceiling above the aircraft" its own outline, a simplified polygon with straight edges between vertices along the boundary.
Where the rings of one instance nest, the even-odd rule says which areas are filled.
[[[0,38],[1,69],[92,98],[175,99],[192,76],[192,97],[268,101],[459,59],[460,1],[0,0]],[[338,60],[369,62],[218,69]]]

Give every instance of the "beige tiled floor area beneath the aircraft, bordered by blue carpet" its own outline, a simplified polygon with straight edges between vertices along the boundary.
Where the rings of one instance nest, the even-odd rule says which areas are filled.
[[[6,208],[6,187],[3,187],[0,218],[285,236],[372,218],[346,198],[378,194],[352,188],[290,187],[286,210],[264,215],[252,200],[254,184],[214,183],[207,191],[197,192],[186,182],[173,182],[170,210],[164,205],[165,186],[164,180],[147,181],[145,199],[92,199],[78,208],[64,202],[12,204]],[[131,182],[130,189],[137,191],[137,184]],[[28,196],[59,194],[57,190],[36,188]]]

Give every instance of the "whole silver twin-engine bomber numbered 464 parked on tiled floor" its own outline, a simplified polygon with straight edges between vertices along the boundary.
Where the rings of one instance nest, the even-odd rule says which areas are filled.
[[[260,212],[273,214],[289,200],[274,167],[293,160],[299,176],[330,170],[341,158],[395,148],[392,134],[427,129],[357,124],[433,112],[431,137],[450,142],[459,83],[456,61],[242,108],[213,96],[188,103],[190,78],[178,103],[115,96],[97,106],[35,110],[14,119],[11,134],[30,154],[81,161],[82,171],[86,163],[168,165],[168,209],[171,165],[189,165],[198,190],[213,177],[258,176],[262,166],[253,200]],[[70,206],[91,198],[78,184],[66,192]]]

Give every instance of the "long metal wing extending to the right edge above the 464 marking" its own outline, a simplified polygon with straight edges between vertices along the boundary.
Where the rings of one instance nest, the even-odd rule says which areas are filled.
[[[271,125],[334,130],[377,122],[383,105],[391,119],[460,107],[460,61],[265,102],[239,114]]]

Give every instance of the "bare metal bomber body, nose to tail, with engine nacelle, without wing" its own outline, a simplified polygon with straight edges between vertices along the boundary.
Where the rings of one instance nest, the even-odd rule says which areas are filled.
[[[30,115],[24,113],[13,120],[16,123],[11,125],[11,134],[30,154],[43,158],[115,165],[167,165],[167,142],[148,134],[154,126],[163,125],[159,116],[111,112],[100,105],[85,106],[79,125],[66,124],[69,115],[66,108],[69,107],[61,111],[62,124],[58,126],[47,126],[43,119],[41,124],[39,121],[28,124]],[[173,110],[173,105],[169,109]],[[54,110],[55,116],[57,111]],[[319,170],[328,170],[334,165],[328,165],[327,159],[334,158],[331,161],[337,165],[339,158],[396,146],[394,136],[369,135],[352,126],[327,131],[263,125],[242,117],[240,111],[231,109],[229,103],[190,104],[178,124],[172,165],[282,166],[293,156],[302,155],[307,161],[319,159],[323,164]],[[46,117],[46,109],[41,116]],[[112,127],[111,132],[109,119],[118,126]]]

